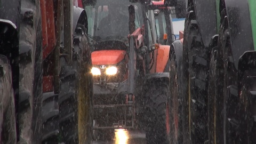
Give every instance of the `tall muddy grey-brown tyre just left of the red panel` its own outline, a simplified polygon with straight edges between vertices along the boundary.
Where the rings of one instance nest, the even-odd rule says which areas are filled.
[[[39,143],[42,100],[42,27],[38,0],[21,1],[19,143]]]

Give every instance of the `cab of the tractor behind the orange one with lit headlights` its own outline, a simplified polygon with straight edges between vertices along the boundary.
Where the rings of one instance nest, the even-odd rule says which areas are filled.
[[[171,5],[172,7],[165,1],[151,1],[148,5],[149,10],[154,10],[157,40],[161,45],[171,45],[175,39],[179,38],[177,34],[186,17],[185,1],[172,1]]]

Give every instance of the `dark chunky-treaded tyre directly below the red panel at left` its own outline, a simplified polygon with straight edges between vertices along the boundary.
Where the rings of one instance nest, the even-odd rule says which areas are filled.
[[[58,94],[43,93],[42,99],[42,138],[41,143],[58,143],[59,135],[59,105]]]

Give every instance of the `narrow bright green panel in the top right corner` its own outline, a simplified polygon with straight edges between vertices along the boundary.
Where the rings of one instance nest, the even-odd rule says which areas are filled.
[[[250,18],[251,18],[251,25],[252,25],[252,38],[253,38],[253,45],[254,51],[256,51],[256,1],[255,0],[248,0],[249,10],[250,10]]]

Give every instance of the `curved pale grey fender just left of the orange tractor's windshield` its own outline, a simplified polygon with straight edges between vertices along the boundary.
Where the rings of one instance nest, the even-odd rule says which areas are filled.
[[[87,14],[84,9],[74,6],[73,11],[73,34],[75,33],[76,25],[81,24],[85,26],[85,32],[88,33]]]

